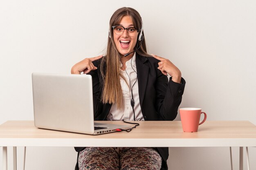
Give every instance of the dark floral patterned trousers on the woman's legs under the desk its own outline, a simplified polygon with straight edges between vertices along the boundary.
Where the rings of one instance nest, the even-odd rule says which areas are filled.
[[[79,170],[160,170],[162,158],[154,148],[88,147],[79,153]]]

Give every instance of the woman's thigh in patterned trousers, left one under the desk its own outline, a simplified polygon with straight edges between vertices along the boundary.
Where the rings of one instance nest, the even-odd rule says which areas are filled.
[[[115,148],[87,147],[79,153],[79,170],[119,170]]]

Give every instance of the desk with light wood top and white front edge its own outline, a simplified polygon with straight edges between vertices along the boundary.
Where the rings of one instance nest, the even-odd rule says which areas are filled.
[[[99,121],[102,123],[101,121]],[[108,122],[109,123],[109,122]],[[112,121],[124,124],[121,121]],[[0,125],[3,170],[7,170],[7,146],[98,147],[243,147],[256,146],[256,126],[249,121],[206,121],[198,132],[183,132],[180,121],[140,121],[131,132],[83,135],[38,129],[34,121],[7,121]]]

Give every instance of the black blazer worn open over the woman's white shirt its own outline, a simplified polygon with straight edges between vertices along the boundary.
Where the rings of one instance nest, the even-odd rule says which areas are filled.
[[[145,121],[170,121],[177,116],[177,110],[182,100],[185,80],[175,83],[157,68],[159,60],[154,57],[144,57],[136,53],[136,68],[139,87],[139,103]],[[93,62],[98,69],[90,71],[92,75],[94,120],[106,120],[111,104],[101,102],[103,79],[100,73],[100,60]],[[75,147],[77,152],[83,147]],[[157,148],[161,155],[162,168],[167,170],[168,148]],[[76,164],[76,169],[78,165]]]

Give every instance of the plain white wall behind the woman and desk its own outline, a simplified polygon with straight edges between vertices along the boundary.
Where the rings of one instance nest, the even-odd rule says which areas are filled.
[[[120,7],[141,14],[148,52],[182,71],[180,107],[202,108],[208,120],[256,124],[255,0],[0,0],[0,124],[33,120],[32,72],[70,73],[76,62],[102,54]],[[230,169],[229,148],[169,148],[169,154],[170,170]],[[256,148],[249,154],[256,169]],[[238,170],[236,147],[233,157]],[[74,148],[27,148],[26,170],[70,170],[75,163]]]

